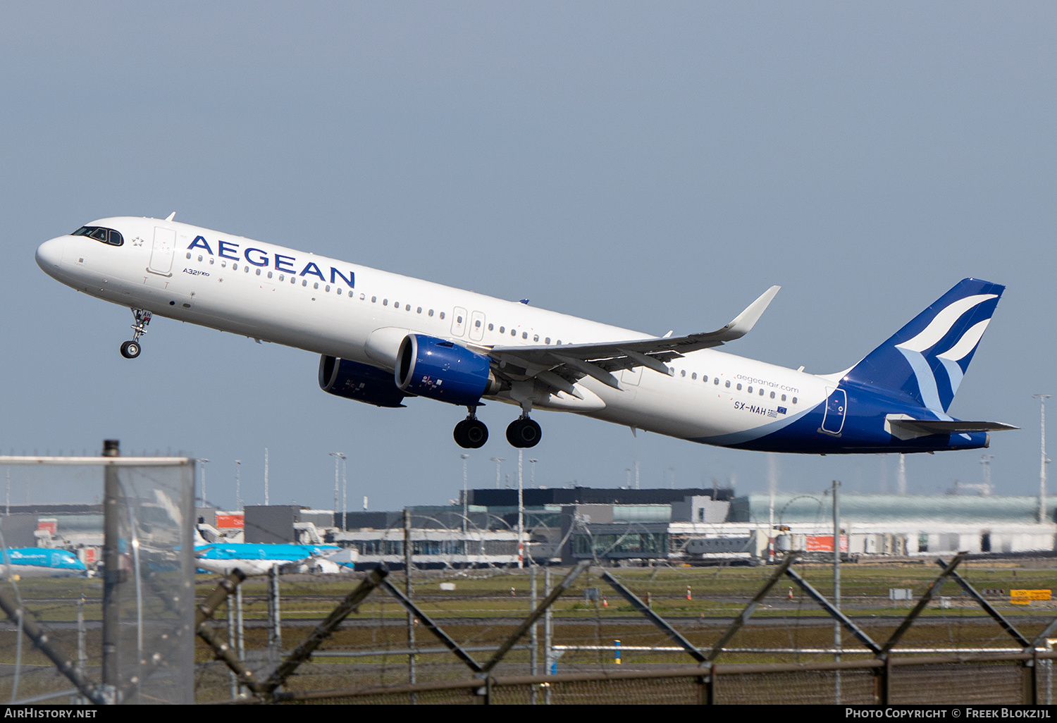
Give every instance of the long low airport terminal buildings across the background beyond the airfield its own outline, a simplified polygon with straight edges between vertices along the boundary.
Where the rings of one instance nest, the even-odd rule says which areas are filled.
[[[409,538],[423,567],[514,566],[519,560],[516,489],[471,489],[449,505],[418,505]],[[828,495],[730,489],[526,489],[520,559],[611,564],[764,562],[773,553],[832,554]],[[205,541],[332,543],[357,568],[404,564],[405,511],[334,513],[300,505],[197,511]],[[1057,500],[1039,521],[1035,497],[845,494],[841,550],[852,557],[1053,553]],[[91,563],[103,541],[99,505],[12,505],[8,546],[62,548]]]

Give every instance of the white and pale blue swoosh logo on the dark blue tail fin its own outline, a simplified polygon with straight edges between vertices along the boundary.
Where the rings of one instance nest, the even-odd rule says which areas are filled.
[[[977,322],[954,338],[949,338],[951,329],[966,312],[997,297],[997,294],[976,294],[958,299],[937,314],[914,337],[895,345],[913,370],[922,402],[927,408],[946,412],[950,407],[968,366],[967,362],[963,364],[963,359],[970,357],[976,350],[990,318]],[[949,387],[949,392],[943,390],[942,396],[937,378],[940,368],[946,372]]]

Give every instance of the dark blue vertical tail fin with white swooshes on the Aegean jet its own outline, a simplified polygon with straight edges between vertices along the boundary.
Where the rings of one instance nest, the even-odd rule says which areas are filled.
[[[845,375],[843,381],[946,413],[1005,286],[963,279]]]

